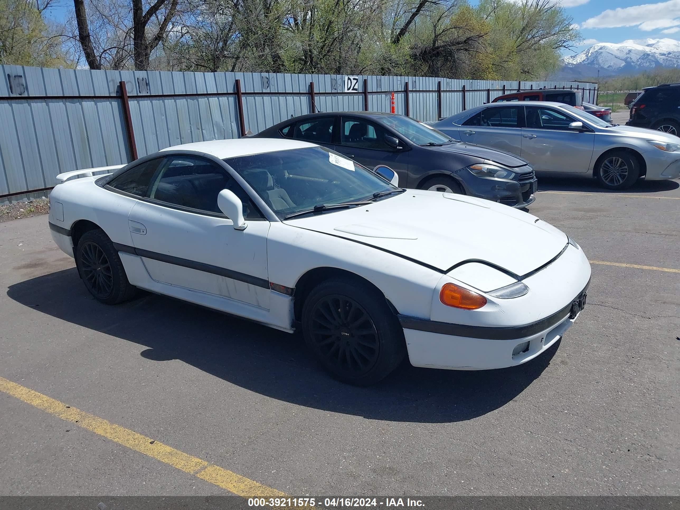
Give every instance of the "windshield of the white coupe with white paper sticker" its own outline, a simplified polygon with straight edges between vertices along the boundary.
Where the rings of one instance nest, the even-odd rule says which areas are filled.
[[[427,129],[427,128],[424,128]],[[322,205],[389,197],[399,188],[323,147],[226,158],[279,218]],[[381,195],[382,197],[383,195]]]

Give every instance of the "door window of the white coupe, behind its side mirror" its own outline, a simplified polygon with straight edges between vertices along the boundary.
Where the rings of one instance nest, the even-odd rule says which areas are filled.
[[[209,160],[193,156],[171,156],[158,172],[149,198],[172,205],[180,205],[222,214],[217,205],[220,191],[232,190],[243,202],[245,218],[262,218],[248,194],[224,170]]]

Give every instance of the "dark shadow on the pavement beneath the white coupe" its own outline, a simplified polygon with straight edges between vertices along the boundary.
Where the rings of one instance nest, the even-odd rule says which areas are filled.
[[[147,360],[181,360],[280,401],[371,420],[471,420],[512,401],[558,349],[494,371],[420,369],[405,361],[376,386],[356,388],[322,371],[301,335],[146,292],[122,305],[102,305],[85,290],[75,268],[14,284],[7,296],[48,316],[137,343]]]

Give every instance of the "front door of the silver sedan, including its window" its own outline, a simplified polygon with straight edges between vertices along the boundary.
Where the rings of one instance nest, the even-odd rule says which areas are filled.
[[[522,152],[535,171],[585,173],[590,167],[595,133],[568,129],[575,122],[564,112],[536,106],[526,107],[522,128]]]

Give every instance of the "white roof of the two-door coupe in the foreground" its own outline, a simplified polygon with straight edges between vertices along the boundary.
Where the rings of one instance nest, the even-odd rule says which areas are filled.
[[[252,154],[265,154],[279,150],[303,149],[316,147],[316,143],[299,140],[271,139],[262,143],[260,138],[237,138],[231,140],[197,141],[183,143],[180,146],[166,147],[160,152],[169,150],[192,150],[211,154],[216,158],[237,158],[238,156],[251,156]]]

